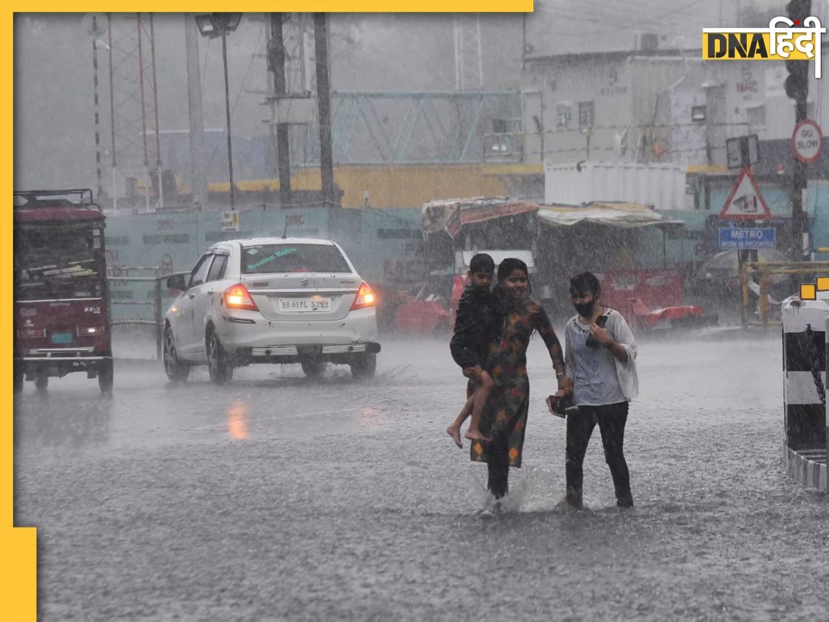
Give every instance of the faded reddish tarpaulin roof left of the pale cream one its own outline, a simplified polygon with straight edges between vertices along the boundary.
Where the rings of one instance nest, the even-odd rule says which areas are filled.
[[[454,239],[464,225],[525,214],[538,211],[538,208],[537,203],[511,201],[504,197],[430,201],[423,206],[423,231],[427,235],[446,231]]]

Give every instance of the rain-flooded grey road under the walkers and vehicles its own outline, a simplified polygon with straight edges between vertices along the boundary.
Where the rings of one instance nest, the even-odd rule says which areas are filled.
[[[589,510],[558,508],[565,425],[529,348],[510,511],[444,433],[447,339],[384,343],[377,377],[298,366],[183,385],[121,362],[17,399],[17,525],[41,620],[827,620],[829,498],[786,478],[779,334],[642,343],[620,513],[598,431]]]

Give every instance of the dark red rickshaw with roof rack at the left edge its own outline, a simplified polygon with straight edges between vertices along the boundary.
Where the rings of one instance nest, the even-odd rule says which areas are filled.
[[[104,214],[88,188],[14,192],[14,388],[113,383]]]

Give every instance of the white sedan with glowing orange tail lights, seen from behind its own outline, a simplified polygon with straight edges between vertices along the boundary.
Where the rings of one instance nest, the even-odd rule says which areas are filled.
[[[300,363],[308,377],[327,362],[354,377],[376,369],[376,299],[339,245],[327,240],[264,237],[218,242],[178,289],[164,316],[164,371],[183,381],[207,365],[211,381],[250,363]]]

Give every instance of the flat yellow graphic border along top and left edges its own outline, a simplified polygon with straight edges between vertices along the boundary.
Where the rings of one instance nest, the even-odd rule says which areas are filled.
[[[135,8],[142,12],[221,12],[227,10],[227,2],[205,0],[177,0],[177,2],[158,2],[151,0]],[[171,6],[172,5],[172,6]],[[6,98],[2,103],[2,150],[0,150],[0,185],[2,195],[9,197],[14,187],[14,148],[13,117],[13,51],[14,51],[14,13],[16,12],[106,12],[112,11],[112,0],[87,0],[86,2],[60,2],[59,0],[5,0],[0,5],[0,67],[2,82],[8,86]],[[271,0],[250,0],[235,7],[246,12],[272,12],[274,2]],[[124,12],[125,7],[119,6]],[[405,0],[389,5],[378,0],[303,0],[303,2],[279,3],[284,12],[532,12],[533,0]],[[390,11],[392,9],[392,11]],[[2,265],[12,265],[12,215],[7,212],[8,226],[2,227],[0,248],[2,248]],[[2,271],[3,291],[12,291],[12,272]],[[12,304],[2,309],[2,325],[12,326]],[[37,617],[37,530],[36,527],[15,527],[14,508],[14,454],[13,454],[13,404],[12,386],[12,330],[7,328],[0,332],[0,351],[6,352],[2,357],[2,377],[6,378],[2,395],[2,415],[0,415],[0,622],[27,622]]]

